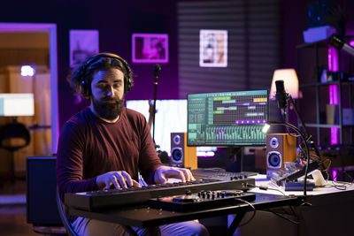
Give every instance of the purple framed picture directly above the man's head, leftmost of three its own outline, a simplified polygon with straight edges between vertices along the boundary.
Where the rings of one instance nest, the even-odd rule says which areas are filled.
[[[98,30],[70,30],[70,67],[98,53]]]

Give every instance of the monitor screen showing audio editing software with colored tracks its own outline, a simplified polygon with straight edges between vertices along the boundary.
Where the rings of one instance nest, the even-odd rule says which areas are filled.
[[[268,90],[188,95],[189,146],[263,146]]]

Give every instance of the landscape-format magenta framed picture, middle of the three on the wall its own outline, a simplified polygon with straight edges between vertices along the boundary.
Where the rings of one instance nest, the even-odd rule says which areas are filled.
[[[133,34],[134,63],[168,63],[168,34]]]

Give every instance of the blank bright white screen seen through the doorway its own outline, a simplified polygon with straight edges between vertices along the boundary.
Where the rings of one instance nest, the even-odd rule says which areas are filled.
[[[25,117],[34,115],[34,94],[0,94],[0,117]]]

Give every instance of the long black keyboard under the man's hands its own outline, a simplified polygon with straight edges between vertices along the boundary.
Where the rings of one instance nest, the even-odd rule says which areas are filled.
[[[95,211],[97,209],[109,207],[148,203],[151,199],[160,199],[168,196],[197,194],[201,191],[204,191],[205,194],[207,191],[223,190],[242,190],[242,192],[244,192],[250,189],[250,186],[254,185],[255,179],[248,178],[232,180],[198,179],[195,181],[153,185],[147,187],[129,187],[82,193],[66,193],[65,205],[75,209]],[[218,193],[215,192],[215,196],[217,195]],[[215,196],[215,202],[222,198]],[[224,194],[224,199],[227,199],[225,196],[230,197],[230,195]],[[231,197],[235,198],[235,196]],[[210,199],[212,200],[212,194],[210,195]],[[200,202],[205,202],[204,200]],[[219,200],[219,202],[221,201],[224,200]]]

